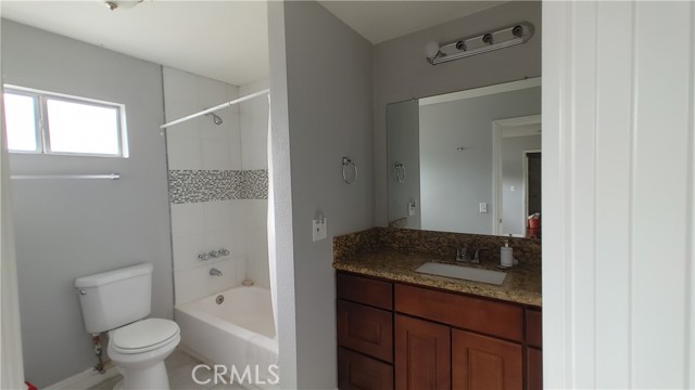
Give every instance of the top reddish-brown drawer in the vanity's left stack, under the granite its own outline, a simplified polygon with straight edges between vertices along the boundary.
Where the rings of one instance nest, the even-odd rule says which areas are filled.
[[[387,310],[393,309],[392,283],[338,273],[336,274],[336,285],[340,299]]]

